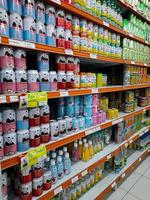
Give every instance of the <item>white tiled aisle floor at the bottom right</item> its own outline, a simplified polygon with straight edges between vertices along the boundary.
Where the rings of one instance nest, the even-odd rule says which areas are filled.
[[[150,200],[150,156],[119,185],[107,200]]]

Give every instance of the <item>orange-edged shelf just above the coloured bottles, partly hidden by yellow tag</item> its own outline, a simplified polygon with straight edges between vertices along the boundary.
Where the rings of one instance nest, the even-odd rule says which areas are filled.
[[[63,138],[60,138],[60,139],[58,139],[56,141],[48,142],[47,144],[45,144],[46,150],[50,151],[52,149],[56,149],[58,147],[64,146],[64,145],[69,144],[69,143],[71,143],[71,142],[73,142],[75,140],[78,140],[78,139],[83,138],[83,137],[85,137],[87,135],[90,135],[90,134],[92,134],[92,133],[94,133],[96,131],[111,127],[114,124],[117,124],[117,123],[119,123],[119,122],[121,122],[123,120],[126,120],[129,117],[135,116],[135,115],[137,115],[139,113],[143,113],[143,112],[145,112],[146,110],[149,110],[149,109],[150,109],[150,106],[146,106],[146,107],[143,107],[143,108],[138,108],[136,111],[134,111],[132,113],[128,113],[128,114],[120,112],[119,113],[119,117],[117,119],[115,119],[115,120],[107,120],[105,123],[102,123],[102,124],[99,124],[99,125],[96,125],[96,126],[92,126],[90,128],[81,130],[81,131],[76,132],[76,133],[72,133],[72,134],[67,135],[67,136],[65,136]],[[146,128],[146,131],[148,131],[148,128]],[[15,155],[9,156],[9,157],[5,156],[3,158],[3,160],[1,161],[1,168],[2,169],[7,169],[9,167],[12,167],[12,166],[15,166],[15,165],[19,164],[20,163],[20,158],[23,157],[25,154],[26,154],[26,152],[16,153]]]

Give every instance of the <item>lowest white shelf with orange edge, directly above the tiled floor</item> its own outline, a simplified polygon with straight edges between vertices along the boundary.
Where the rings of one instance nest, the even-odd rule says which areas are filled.
[[[136,151],[127,160],[127,165],[121,170],[119,174],[114,172],[109,173],[105,178],[103,178],[99,183],[97,183],[93,188],[86,192],[80,197],[80,200],[104,200],[105,196],[119,183],[122,181],[132,170],[135,169],[139,163],[145,159],[149,154],[149,150]]]

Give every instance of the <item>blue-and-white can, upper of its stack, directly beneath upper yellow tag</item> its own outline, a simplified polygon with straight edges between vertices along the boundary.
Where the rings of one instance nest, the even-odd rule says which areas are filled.
[[[16,128],[17,130],[24,130],[29,128],[28,109],[16,110]]]

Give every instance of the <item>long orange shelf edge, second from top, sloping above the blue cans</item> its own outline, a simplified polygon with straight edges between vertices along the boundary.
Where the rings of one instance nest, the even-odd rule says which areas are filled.
[[[68,12],[71,12],[71,13],[75,14],[75,15],[83,17],[83,18],[85,18],[85,19],[87,19],[89,21],[92,21],[93,23],[95,23],[95,24],[97,24],[99,26],[103,26],[103,27],[105,27],[105,28],[107,28],[107,29],[109,29],[111,31],[114,31],[114,32],[122,35],[123,37],[127,37],[129,39],[132,39],[132,40],[135,40],[137,42],[140,42],[140,43],[143,43],[145,45],[150,46],[150,43],[145,41],[145,40],[143,40],[142,38],[140,38],[138,36],[135,36],[133,34],[130,34],[130,33],[126,32],[126,31],[124,31],[122,29],[119,29],[119,28],[117,28],[117,27],[115,27],[115,26],[113,26],[113,25],[111,25],[109,23],[106,23],[103,20],[98,19],[97,17],[95,17],[95,16],[93,16],[93,15],[91,15],[91,14],[89,14],[89,13],[83,11],[83,10],[81,10],[80,8],[75,7],[74,5],[71,5],[71,4],[68,4],[68,3],[65,3],[65,2],[61,2],[61,1],[58,1],[58,0],[44,0],[44,1],[47,2],[47,3],[50,3],[50,4],[54,4],[55,6],[61,8],[63,10],[66,10]]]

